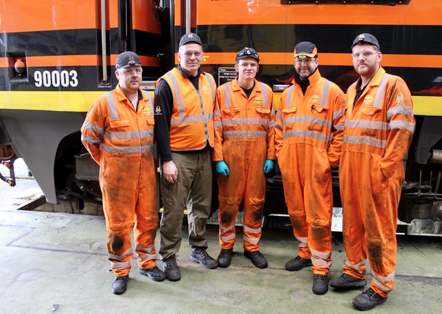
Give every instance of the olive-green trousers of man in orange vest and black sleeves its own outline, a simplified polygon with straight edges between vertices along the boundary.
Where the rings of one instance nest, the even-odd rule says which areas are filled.
[[[189,196],[193,205],[188,209],[189,245],[207,247],[206,222],[212,198],[212,164],[210,149],[202,153],[172,153],[178,169],[177,182],[171,184],[163,177],[163,213],[160,223],[161,260],[177,254],[182,239],[182,221]]]

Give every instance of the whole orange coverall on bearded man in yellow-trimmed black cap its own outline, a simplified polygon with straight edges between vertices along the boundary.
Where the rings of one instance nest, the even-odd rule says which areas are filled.
[[[316,70],[303,95],[299,84],[282,92],[275,139],[285,202],[300,244],[315,274],[332,265],[332,170],[338,166],[344,127],[344,93]]]

